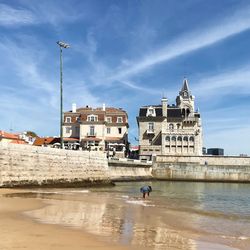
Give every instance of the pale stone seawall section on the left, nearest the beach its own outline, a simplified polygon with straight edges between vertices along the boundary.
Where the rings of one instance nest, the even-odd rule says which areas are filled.
[[[102,152],[0,143],[0,187],[108,184]]]

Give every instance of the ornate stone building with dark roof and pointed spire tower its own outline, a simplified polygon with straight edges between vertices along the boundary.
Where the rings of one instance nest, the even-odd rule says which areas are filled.
[[[137,123],[141,159],[151,159],[152,155],[202,155],[201,118],[195,111],[187,79],[175,105],[168,105],[163,97],[161,105],[143,106]]]

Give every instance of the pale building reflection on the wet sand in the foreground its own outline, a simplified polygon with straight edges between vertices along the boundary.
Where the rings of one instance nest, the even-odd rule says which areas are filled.
[[[196,249],[192,239],[148,216],[153,212],[151,207],[143,212],[145,207],[105,197],[85,197],[83,201],[50,199],[46,203],[46,207],[27,214],[43,223],[81,228],[125,245],[155,250]]]

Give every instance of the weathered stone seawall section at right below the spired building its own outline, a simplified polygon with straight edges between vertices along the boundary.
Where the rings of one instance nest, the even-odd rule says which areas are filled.
[[[250,157],[157,156],[152,174],[162,180],[250,183]]]

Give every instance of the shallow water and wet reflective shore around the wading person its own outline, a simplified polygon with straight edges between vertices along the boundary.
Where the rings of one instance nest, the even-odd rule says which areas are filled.
[[[145,200],[139,192],[144,184],[153,188]],[[250,249],[249,184],[122,182],[27,195],[48,203],[28,213],[36,220],[81,228],[120,244],[155,250]]]

